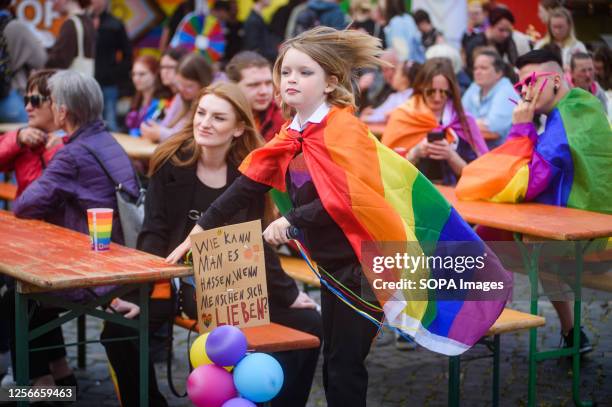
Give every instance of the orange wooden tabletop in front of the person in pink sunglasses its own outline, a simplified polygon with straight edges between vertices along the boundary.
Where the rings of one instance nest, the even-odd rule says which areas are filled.
[[[460,201],[454,188],[438,190],[469,223],[554,240],[612,236],[612,215],[538,203]]]

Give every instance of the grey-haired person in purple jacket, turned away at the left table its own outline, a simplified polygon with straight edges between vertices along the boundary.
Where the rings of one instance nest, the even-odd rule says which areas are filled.
[[[17,217],[43,219],[88,233],[88,208],[117,210],[115,184],[106,173],[136,197],[134,168],[101,120],[102,90],[95,79],[59,71],[49,79],[49,88],[53,121],[67,134],[65,146],[17,198],[13,210]],[[111,238],[123,243],[118,217],[113,219]]]

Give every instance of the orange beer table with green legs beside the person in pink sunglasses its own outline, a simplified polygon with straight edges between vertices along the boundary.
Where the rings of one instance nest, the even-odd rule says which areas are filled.
[[[521,252],[523,265],[531,286],[530,312],[538,314],[538,265],[542,242],[535,239],[572,242],[575,251],[574,273],[574,337],[572,348],[538,351],[537,328],[529,330],[529,387],[528,405],[536,405],[537,362],[561,357],[572,357],[572,394],[577,406],[590,406],[580,399],[580,322],[581,288],[584,270],[584,251],[595,239],[612,236],[612,215],[538,203],[492,203],[460,201],[452,187],[438,186],[438,190],[467,222],[510,231]],[[531,243],[526,244],[526,241]],[[451,360],[451,363],[453,361]],[[458,360],[454,361],[459,363]]]

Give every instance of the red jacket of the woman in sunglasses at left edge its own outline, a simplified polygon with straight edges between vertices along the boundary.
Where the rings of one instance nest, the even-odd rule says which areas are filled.
[[[0,136],[0,172],[15,171],[19,196],[40,177],[53,155],[64,145],[60,143],[49,149],[40,146],[32,150],[17,143],[17,134],[12,131]]]

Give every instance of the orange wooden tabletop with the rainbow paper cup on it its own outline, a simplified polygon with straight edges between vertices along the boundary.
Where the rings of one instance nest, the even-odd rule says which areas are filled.
[[[94,252],[89,236],[37,220],[17,219],[0,211],[0,272],[34,289],[57,290],[106,284],[130,284],[187,276],[191,269],[111,243]]]

